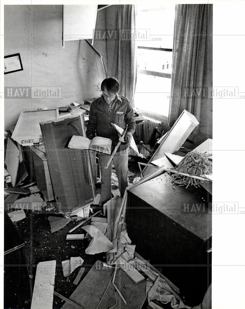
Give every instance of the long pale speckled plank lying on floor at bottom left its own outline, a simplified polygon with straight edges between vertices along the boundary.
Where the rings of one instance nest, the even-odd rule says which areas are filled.
[[[55,260],[38,263],[31,309],[53,308],[55,266]]]

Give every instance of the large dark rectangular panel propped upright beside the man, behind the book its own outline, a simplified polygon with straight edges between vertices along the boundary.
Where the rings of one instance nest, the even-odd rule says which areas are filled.
[[[78,134],[71,124],[85,135],[82,115],[40,124],[59,212],[90,205],[95,196],[88,151],[66,148],[71,137]]]

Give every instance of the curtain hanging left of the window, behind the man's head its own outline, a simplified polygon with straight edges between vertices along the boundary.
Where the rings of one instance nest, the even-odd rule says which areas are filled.
[[[134,106],[134,92],[137,79],[137,49],[135,40],[124,40],[127,30],[135,32],[135,5],[112,5],[105,10],[104,27],[114,32],[106,38],[106,63],[108,76],[116,77],[120,84],[120,95],[126,96]],[[103,43],[100,41],[100,43]],[[103,57],[104,58],[104,57]]]

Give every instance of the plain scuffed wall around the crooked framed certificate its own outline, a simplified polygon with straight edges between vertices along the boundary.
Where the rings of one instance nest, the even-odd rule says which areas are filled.
[[[62,88],[62,99],[5,99],[5,129],[21,111],[99,96],[105,78],[100,57],[83,40],[65,42],[63,49],[62,20],[62,5],[4,6],[4,55],[20,53],[23,65],[23,71],[5,74],[5,87]]]

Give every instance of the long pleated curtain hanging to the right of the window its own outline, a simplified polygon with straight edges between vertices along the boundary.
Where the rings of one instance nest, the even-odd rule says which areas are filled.
[[[211,8],[208,4],[175,6],[173,70],[168,124],[184,109],[192,113],[205,135],[209,135],[208,119],[212,104],[208,87],[212,87]]]

